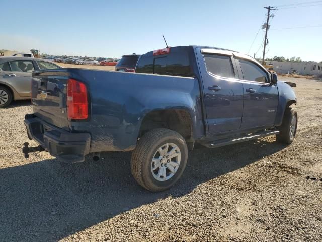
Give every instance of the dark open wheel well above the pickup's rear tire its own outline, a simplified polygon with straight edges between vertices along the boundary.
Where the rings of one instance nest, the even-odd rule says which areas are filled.
[[[149,112],[142,120],[139,137],[155,128],[174,130],[185,140],[192,139],[192,120],[186,110],[168,109]]]

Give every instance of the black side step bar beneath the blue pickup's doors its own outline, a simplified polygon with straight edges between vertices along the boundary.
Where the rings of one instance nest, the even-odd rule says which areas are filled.
[[[255,139],[270,136],[270,135],[277,135],[279,133],[280,132],[278,130],[269,131],[269,132],[266,131],[266,132],[260,132],[260,133],[256,133],[256,134],[252,134],[249,136],[240,137],[240,138],[236,138],[236,139],[224,139],[224,140],[217,140],[217,141],[213,141],[213,142],[209,142],[209,143],[201,143],[201,144],[208,147],[208,148],[217,148],[220,146],[237,144],[237,143],[248,141],[248,140],[255,140]]]

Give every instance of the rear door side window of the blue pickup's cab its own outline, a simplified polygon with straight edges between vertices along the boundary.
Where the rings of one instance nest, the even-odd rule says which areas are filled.
[[[234,78],[230,56],[204,54],[207,71],[220,77]]]

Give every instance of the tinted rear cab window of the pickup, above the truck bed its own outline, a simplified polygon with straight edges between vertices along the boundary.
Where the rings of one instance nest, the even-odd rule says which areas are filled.
[[[193,77],[188,47],[170,47],[170,52],[153,55],[143,54],[137,62],[135,72],[169,76]]]

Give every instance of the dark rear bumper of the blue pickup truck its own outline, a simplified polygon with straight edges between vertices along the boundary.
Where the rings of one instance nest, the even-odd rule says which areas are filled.
[[[44,122],[34,114],[25,116],[25,126],[30,140],[35,140],[61,161],[83,162],[85,155],[89,154],[91,144],[89,133],[70,133]]]

